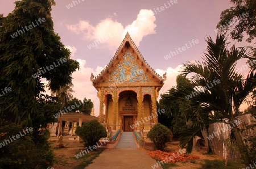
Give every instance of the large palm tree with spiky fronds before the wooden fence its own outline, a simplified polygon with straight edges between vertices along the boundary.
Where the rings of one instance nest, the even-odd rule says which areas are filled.
[[[193,137],[209,124],[235,122],[237,117],[243,114],[239,111],[240,105],[256,86],[254,81],[256,74],[253,71],[247,75],[246,79],[242,79],[242,74],[236,71],[238,60],[242,58],[254,60],[252,52],[247,52],[247,48],[236,48],[234,45],[228,50],[226,40],[225,33],[218,33],[215,42],[211,37],[207,38],[208,47],[203,61],[188,62],[184,65],[183,75],[192,73],[191,83],[196,87],[192,91],[191,88],[178,89],[173,95],[180,99],[190,94],[192,96],[189,98],[189,107],[184,108],[192,109],[189,116],[192,125],[180,137],[180,144],[182,147],[187,145],[188,153],[192,150]],[[217,80],[220,84],[216,83]],[[206,87],[205,91],[202,91],[203,87]],[[245,145],[237,125],[232,129],[232,134],[237,145],[241,146],[240,150],[243,150]]]

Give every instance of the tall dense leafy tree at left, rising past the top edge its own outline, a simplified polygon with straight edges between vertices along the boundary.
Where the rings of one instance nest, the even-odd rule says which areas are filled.
[[[32,121],[32,114],[39,111],[39,94],[44,92],[41,79],[46,78],[49,88],[56,91],[71,83],[71,74],[79,68],[79,63],[69,58],[71,53],[53,30],[51,6],[55,5],[54,1],[23,0],[15,3],[14,11],[0,18],[0,87],[11,88],[11,92],[0,97],[0,120]],[[46,19],[46,22],[20,33],[18,37],[11,37],[17,29],[31,25],[39,18]],[[61,64],[63,58],[67,61]],[[52,70],[32,77],[46,66],[54,65],[53,62],[57,66]]]

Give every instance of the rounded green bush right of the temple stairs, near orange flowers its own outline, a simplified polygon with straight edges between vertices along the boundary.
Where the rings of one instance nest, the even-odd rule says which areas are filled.
[[[163,151],[165,144],[172,139],[172,133],[166,126],[158,123],[148,132],[147,138],[154,142],[157,150]]]

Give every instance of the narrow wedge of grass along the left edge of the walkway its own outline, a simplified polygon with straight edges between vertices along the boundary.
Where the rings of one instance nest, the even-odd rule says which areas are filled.
[[[75,169],[84,169],[86,166],[92,163],[93,159],[98,157],[102,153],[102,150],[94,151],[89,154],[82,155],[80,158],[71,157],[71,159],[75,160],[82,160],[82,163],[80,163],[78,166],[75,167]]]

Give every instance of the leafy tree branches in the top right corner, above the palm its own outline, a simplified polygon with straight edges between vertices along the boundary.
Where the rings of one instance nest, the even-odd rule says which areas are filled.
[[[256,37],[256,1],[255,0],[230,0],[234,6],[221,12],[219,29],[232,29],[232,39],[242,41],[243,33],[249,37],[249,43]],[[237,24],[236,24],[237,23]],[[231,26],[234,24],[234,27]]]

